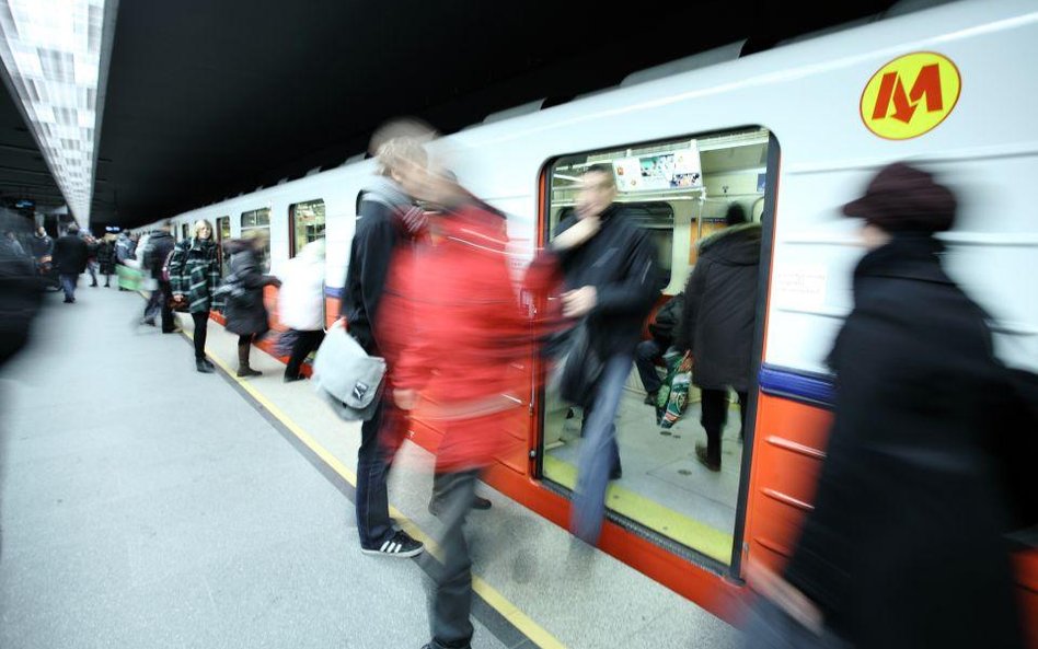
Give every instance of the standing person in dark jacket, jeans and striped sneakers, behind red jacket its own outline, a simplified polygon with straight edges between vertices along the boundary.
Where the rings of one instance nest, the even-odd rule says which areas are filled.
[[[376,324],[390,265],[400,248],[413,244],[423,227],[414,192],[420,188],[427,154],[419,138],[385,138],[385,131],[380,129],[372,137],[372,146],[378,141],[378,175],[361,195],[341,316],[365,351],[387,359],[387,381],[391,381],[393,359],[384,352],[383,343],[394,332],[380,331]],[[389,517],[387,479],[403,436],[402,426],[387,391],[374,415],[360,427],[356,507],[360,548],[366,554],[413,557],[424,549],[406,532],[395,530]]]

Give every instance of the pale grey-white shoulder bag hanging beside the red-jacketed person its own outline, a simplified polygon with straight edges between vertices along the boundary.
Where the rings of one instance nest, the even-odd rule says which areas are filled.
[[[370,419],[384,379],[385,359],[368,356],[342,321],[332,325],[318,348],[311,382],[335,414],[347,421]]]

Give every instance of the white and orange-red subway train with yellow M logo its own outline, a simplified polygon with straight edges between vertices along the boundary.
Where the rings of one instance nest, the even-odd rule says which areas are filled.
[[[708,26],[704,26],[708,28]],[[508,216],[518,278],[573,209],[578,176],[610,164],[619,200],[658,250],[664,295],[681,291],[696,242],[739,202],[763,228],[746,430],[729,417],[723,471],[695,462],[697,395],[664,431],[636,372],[618,417],[624,476],[609,494],[600,546],[723,616],[746,592],[749,557],[780,566],[811,509],[831,415],[824,364],[852,306],[863,254],[840,207],[892,161],[912,161],[957,192],[946,268],[993,317],[996,352],[1038,371],[1038,4],[964,1],[814,35],[740,57],[736,43],[632,74],[619,86],[487,117],[429,146],[459,181]],[[618,54],[622,47],[618,48]],[[608,65],[608,61],[603,61]],[[220,240],[269,233],[276,273],[326,237],[326,320],[338,314],[350,237],[374,161],[337,167],[176,216],[176,236],[206,219]],[[149,230],[154,225],[143,228]],[[518,290],[518,289],[517,289]],[[519,299],[526,295],[517,294]],[[214,314],[219,318],[219,314]],[[535,359],[528,416],[486,482],[566,525],[579,417],[545,393]],[[435,426],[413,424],[435,448]],[[1029,641],[1038,647],[1038,552],[1017,558]]]

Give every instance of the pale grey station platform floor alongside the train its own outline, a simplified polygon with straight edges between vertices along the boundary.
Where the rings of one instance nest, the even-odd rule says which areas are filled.
[[[209,323],[215,374],[182,334],[139,325],[140,295],[47,295],[0,374],[0,647],[349,647],[429,638],[439,523],[432,456],[405,442],[391,513],[430,552],[360,553],[358,424]],[[500,492],[466,528],[473,647],[734,648],[738,631]]]

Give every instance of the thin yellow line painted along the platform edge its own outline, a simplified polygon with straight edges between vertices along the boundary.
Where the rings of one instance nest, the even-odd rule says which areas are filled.
[[[193,333],[188,334],[186,331],[181,332],[187,338],[194,339]],[[298,424],[291,420],[291,418],[286,415],[280,408],[274,405],[267,397],[263,396],[258,390],[250,385],[247,381],[242,380],[240,376],[237,376],[234,372],[223,362],[223,360],[210,354],[209,357],[227,373],[228,376],[234,379],[245,392],[249,393],[254,399],[256,399],[260,405],[266,408],[274,417],[284,424],[289,430],[292,431],[299,440],[307,444],[307,447],[313,451],[322,462],[331,466],[335,473],[341,475],[346,479],[353,487],[357,486],[357,475],[350,472],[346,466],[338,461],[335,455],[328,452],[324,447],[322,447],[313,437],[311,437],[307,431],[299,427]],[[413,521],[406,518],[403,513],[400,512],[395,507],[390,507],[390,515],[396,519],[405,532],[411,534],[414,538],[417,538],[423,544],[425,544],[426,549],[435,556],[437,559],[441,559],[441,552],[439,546],[436,544],[432,538],[418,529]],[[566,646],[558,641],[555,636],[544,629],[541,625],[535,623],[530,618],[529,615],[519,610],[518,606],[508,601],[505,595],[497,591],[494,587],[488,584],[486,581],[472,576],[472,590],[474,590],[483,600],[489,604],[495,611],[497,611],[501,617],[507,619],[519,629],[522,635],[524,635],[530,641],[532,641],[538,647],[542,649],[566,649]]]

